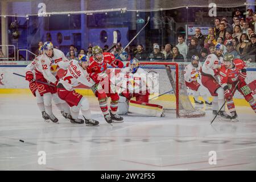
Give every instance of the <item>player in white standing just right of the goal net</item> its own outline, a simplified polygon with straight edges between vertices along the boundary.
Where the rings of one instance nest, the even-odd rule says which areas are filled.
[[[191,63],[184,69],[185,84],[189,89],[193,90],[195,104],[204,104],[205,102],[206,105],[212,105],[212,102],[208,100],[208,90],[197,82],[197,79],[200,78],[201,69],[202,64],[199,61],[199,57],[192,56]],[[198,100],[199,94],[204,98],[204,102]]]

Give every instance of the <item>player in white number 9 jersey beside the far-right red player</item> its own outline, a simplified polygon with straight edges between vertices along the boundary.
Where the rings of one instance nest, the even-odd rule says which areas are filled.
[[[213,114],[216,115],[219,107],[221,107],[224,103],[224,89],[220,84],[220,76],[219,71],[221,68],[221,64],[223,63],[222,52],[224,51],[224,47],[222,44],[216,44],[215,53],[212,53],[207,56],[207,59],[204,62],[202,67],[202,84],[209,90],[210,94],[213,97]],[[220,117],[229,119],[230,115],[225,113],[225,107],[222,107],[220,113]]]

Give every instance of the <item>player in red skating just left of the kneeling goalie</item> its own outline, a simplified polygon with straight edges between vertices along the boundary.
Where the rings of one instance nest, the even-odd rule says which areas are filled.
[[[92,87],[95,96],[98,98],[100,108],[104,114],[106,122],[122,121],[123,118],[117,114],[119,96],[109,79],[107,71],[108,64],[112,67],[122,68],[122,61],[115,59],[114,55],[109,52],[103,52],[99,46],[92,48],[90,65],[87,72],[96,84]],[[108,111],[108,97],[111,98],[110,113]],[[110,114],[110,115],[109,115]]]

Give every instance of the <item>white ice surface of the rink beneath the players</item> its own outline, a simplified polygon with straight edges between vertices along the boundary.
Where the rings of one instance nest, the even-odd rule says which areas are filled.
[[[237,123],[210,125],[213,116],[206,110],[203,118],[185,119],[131,114],[111,126],[96,98],[88,98],[100,126],[70,123],[54,105],[59,124],[47,123],[31,94],[0,94],[0,170],[256,169],[256,119],[250,107],[237,107]],[[46,164],[39,165],[40,151]],[[216,152],[216,164],[209,164],[210,151]]]

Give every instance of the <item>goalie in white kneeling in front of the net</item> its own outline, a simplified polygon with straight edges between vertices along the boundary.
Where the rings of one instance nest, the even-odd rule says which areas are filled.
[[[129,65],[122,69],[115,81],[122,84],[122,91],[119,94],[118,114],[131,112],[148,116],[163,116],[162,106],[148,103],[152,80],[147,72],[139,68],[138,59],[131,59]],[[136,98],[136,101],[131,100],[133,97]]]

